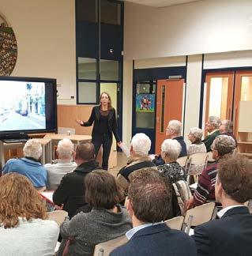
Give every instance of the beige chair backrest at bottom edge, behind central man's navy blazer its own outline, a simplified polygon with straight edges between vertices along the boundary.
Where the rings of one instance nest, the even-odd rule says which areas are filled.
[[[96,244],[93,256],[108,256],[112,250],[127,243],[126,235],[119,236],[116,239]]]

